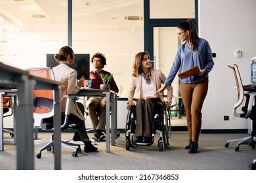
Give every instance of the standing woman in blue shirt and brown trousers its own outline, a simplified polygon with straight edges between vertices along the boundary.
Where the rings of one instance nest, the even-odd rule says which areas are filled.
[[[177,27],[177,35],[181,42],[173,66],[165,80],[165,84],[157,92],[162,92],[167,86],[171,86],[179,69],[181,73],[198,66],[200,71],[193,76],[181,79],[180,90],[182,101],[186,111],[188,125],[189,144],[185,146],[188,153],[198,152],[198,139],[202,125],[203,101],[208,90],[208,75],[213,68],[213,58],[209,43],[199,38],[196,28],[191,20],[182,22]]]

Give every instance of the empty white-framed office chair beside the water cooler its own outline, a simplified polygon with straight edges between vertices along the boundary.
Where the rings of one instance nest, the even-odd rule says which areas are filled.
[[[238,98],[236,103],[233,107],[233,116],[238,118],[250,118],[251,119],[251,136],[244,137],[241,139],[233,139],[227,141],[225,147],[229,146],[230,142],[238,142],[237,146],[234,150],[238,151],[240,145],[242,144],[249,144],[252,148],[255,148],[255,141],[256,141],[256,105],[255,105],[255,96],[256,96],[256,87],[253,86],[244,86],[242,82],[242,78],[240,76],[240,72],[238,69],[238,65],[236,64],[229,64],[233,70],[234,78],[236,81],[236,90],[238,92]],[[244,106],[243,101],[245,99]],[[241,108],[242,107],[242,108]],[[242,109],[242,112],[238,112],[238,108]]]

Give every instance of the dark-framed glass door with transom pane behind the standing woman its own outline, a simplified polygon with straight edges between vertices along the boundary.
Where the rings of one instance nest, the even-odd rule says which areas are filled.
[[[174,3],[175,2],[175,3]],[[165,76],[173,65],[177,48],[181,45],[177,37],[177,25],[191,18],[197,27],[196,7],[197,1],[150,1],[150,20],[148,24],[150,55],[154,57],[154,67],[160,69]],[[146,33],[145,33],[146,34]],[[152,35],[152,37],[150,36]],[[186,125],[186,116],[179,91],[179,77],[176,76],[172,83],[173,104],[172,125]],[[166,91],[165,91],[166,94]]]

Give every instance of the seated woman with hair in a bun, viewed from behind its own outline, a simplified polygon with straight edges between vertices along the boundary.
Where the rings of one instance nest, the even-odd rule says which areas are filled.
[[[59,63],[58,66],[53,67],[53,72],[55,76],[55,80],[61,82],[61,110],[65,112],[66,108],[66,94],[76,94],[79,92],[81,86],[83,86],[83,82],[85,78],[82,76],[78,82],[77,79],[77,72],[70,67],[70,65],[74,64],[75,55],[70,46],[64,46],[60,48],[58,54],[54,54],[54,58]],[[75,100],[72,101],[70,114],[74,114],[79,121],[76,123],[76,131],[73,137],[74,141],[83,141],[85,144],[85,152],[95,152],[98,150],[87,135],[85,129],[85,116],[83,116],[84,106],[81,103],[77,103]]]

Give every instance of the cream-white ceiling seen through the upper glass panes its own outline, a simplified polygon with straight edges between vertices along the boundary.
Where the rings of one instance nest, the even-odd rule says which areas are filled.
[[[143,27],[142,20],[125,20],[127,16],[143,18],[143,0],[74,0],[73,31],[90,28]],[[42,14],[45,18],[34,18]],[[190,18],[194,0],[150,0],[153,18]],[[0,17],[24,32],[59,32],[68,29],[68,0],[1,0]]]

